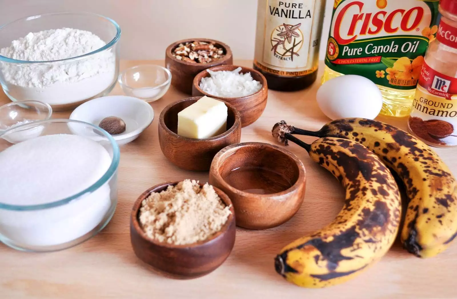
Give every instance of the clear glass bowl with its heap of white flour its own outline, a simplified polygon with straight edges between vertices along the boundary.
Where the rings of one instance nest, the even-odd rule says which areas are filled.
[[[90,13],[27,17],[0,27],[0,83],[12,101],[53,111],[108,94],[117,81],[121,29]]]

